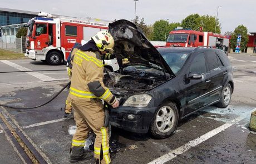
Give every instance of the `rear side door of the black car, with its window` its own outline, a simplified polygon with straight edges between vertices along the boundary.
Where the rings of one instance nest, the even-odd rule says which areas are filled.
[[[209,103],[213,103],[219,100],[225,70],[221,69],[216,52],[207,51],[205,52],[205,57],[211,74]]]

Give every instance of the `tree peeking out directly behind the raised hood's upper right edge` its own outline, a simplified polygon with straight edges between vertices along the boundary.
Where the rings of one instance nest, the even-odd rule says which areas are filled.
[[[147,39],[151,40],[152,39],[152,33],[153,33],[153,28],[151,25],[147,25],[144,22],[144,18],[141,18],[139,20],[139,16],[136,16],[135,20],[133,19],[132,22],[134,22],[140,29],[143,31]]]

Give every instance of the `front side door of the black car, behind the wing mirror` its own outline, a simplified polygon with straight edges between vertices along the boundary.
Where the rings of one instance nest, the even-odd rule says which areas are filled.
[[[205,62],[205,54],[203,52],[197,54],[191,61],[186,73],[189,74],[190,72],[200,73],[202,78],[185,80],[185,115],[198,110],[199,108],[204,107],[209,103],[208,98],[211,76],[208,71],[208,67]]]

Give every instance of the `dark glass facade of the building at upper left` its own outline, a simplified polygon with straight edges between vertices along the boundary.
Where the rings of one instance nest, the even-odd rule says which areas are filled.
[[[37,15],[0,11],[0,26],[26,23],[34,17],[37,17]]]

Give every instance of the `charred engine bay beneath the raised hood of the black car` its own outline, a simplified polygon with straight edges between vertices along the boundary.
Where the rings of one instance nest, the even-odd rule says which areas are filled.
[[[104,84],[114,91],[115,95],[126,97],[126,94],[139,93],[150,90],[151,88],[165,82],[164,77],[154,77],[138,73],[110,72],[104,76]],[[128,95],[127,95],[128,96]]]

